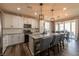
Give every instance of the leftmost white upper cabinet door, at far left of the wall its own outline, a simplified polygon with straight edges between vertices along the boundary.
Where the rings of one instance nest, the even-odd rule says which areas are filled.
[[[9,14],[4,14],[4,20],[3,20],[3,27],[4,28],[11,28],[12,26],[12,19],[13,16]]]

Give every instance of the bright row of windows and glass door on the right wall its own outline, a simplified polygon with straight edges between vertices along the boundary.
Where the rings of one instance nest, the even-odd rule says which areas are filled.
[[[55,31],[68,31],[70,38],[75,38],[75,26],[76,21],[75,20],[69,20],[65,22],[56,22],[55,23]]]

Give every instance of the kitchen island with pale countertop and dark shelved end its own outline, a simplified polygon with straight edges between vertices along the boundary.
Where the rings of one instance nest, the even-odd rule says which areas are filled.
[[[53,35],[60,35],[63,33],[47,33],[47,34],[31,34],[29,35],[29,49],[32,55],[37,55],[41,51],[48,49],[52,42]],[[41,50],[41,51],[40,51]]]

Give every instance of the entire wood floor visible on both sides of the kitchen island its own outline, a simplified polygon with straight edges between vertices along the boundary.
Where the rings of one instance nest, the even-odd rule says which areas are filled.
[[[10,46],[5,51],[4,56],[31,56],[27,44],[17,44]],[[52,52],[51,52],[51,56]],[[65,48],[56,56],[79,56],[79,40],[70,40],[65,43]]]

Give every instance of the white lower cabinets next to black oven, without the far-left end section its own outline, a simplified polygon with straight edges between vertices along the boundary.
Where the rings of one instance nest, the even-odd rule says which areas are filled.
[[[8,45],[14,45],[18,43],[24,42],[24,35],[23,34],[14,34],[14,35],[9,35],[9,44]]]

